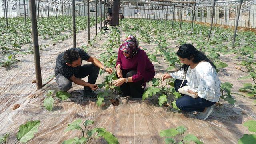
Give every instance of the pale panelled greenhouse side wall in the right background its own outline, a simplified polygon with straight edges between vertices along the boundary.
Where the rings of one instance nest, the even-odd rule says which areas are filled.
[[[157,6],[157,5],[153,7],[149,7],[150,10],[148,10],[148,8],[144,6],[132,7],[132,5],[130,4],[124,5],[123,7],[124,7],[124,10],[122,13],[126,18],[151,18],[151,15],[152,15],[152,19],[157,19],[157,17],[158,19],[161,19],[162,12],[163,12],[163,19],[166,18],[167,6],[164,7],[163,11],[162,11],[162,6]],[[215,7],[214,18],[213,18],[214,24],[235,26],[235,22],[236,22],[235,12],[237,11],[237,8],[238,6]],[[192,10],[193,10],[192,6],[184,7],[182,20],[191,21]],[[168,12],[167,12],[168,20],[172,20],[172,11],[173,11],[173,7],[169,6]],[[176,7],[175,14],[174,14],[175,20],[180,19],[180,13],[181,13],[181,8]],[[210,23],[211,13],[212,13],[212,9],[210,7],[196,7],[194,20],[196,22]],[[256,28],[256,6],[255,5],[243,6],[240,12],[238,26],[246,27],[246,28]]]

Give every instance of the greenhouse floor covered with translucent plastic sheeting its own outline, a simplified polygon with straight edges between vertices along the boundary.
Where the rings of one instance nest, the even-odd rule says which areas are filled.
[[[91,39],[95,35],[95,28],[91,28]],[[108,32],[106,32],[108,33]],[[101,46],[106,40],[107,34],[97,40],[94,47],[88,50],[90,56],[99,58],[104,52]],[[121,39],[126,34],[121,31]],[[87,44],[87,31],[81,31],[76,35],[77,46]],[[40,50],[42,81],[54,74],[55,60],[58,54],[72,47],[72,38],[58,42],[56,45]],[[170,48],[177,49],[176,40],[169,40]],[[39,40],[39,44],[50,44],[50,40]],[[28,45],[23,46],[22,48]],[[154,43],[140,41],[146,52],[155,52]],[[116,48],[116,51],[118,48]],[[153,62],[156,69],[156,78],[166,73],[168,64],[158,55],[160,64]],[[228,64],[228,67],[220,70],[218,75],[222,82],[231,82],[233,92],[238,92],[242,82],[237,81],[240,76],[246,76],[245,72],[238,70],[232,56],[221,56],[221,59]],[[138,100],[131,98],[119,98],[120,105],[113,106],[110,98],[118,98],[118,94],[111,94],[105,99],[103,106],[96,105],[96,99],[83,98],[82,86],[73,83],[69,90],[72,95],[68,100],[55,100],[52,112],[43,107],[44,94],[47,90],[55,90],[55,80],[52,80],[42,90],[36,92],[34,56],[24,55],[20,62],[10,68],[0,68],[0,129],[1,133],[10,132],[11,144],[16,142],[18,127],[27,120],[40,120],[40,127],[35,137],[28,144],[60,144],[64,140],[81,136],[81,132],[74,130],[64,132],[67,125],[78,118],[82,120],[94,120],[93,127],[104,127],[118,138],[120,144],[164,144],[164,138],[159,136],[160,130],[185,126],[188,130],[185,134],[194,134],[205,144],[236,144],[243,134],[249,134],[248,128],[242,124],[247,120],[256,120],[256,107],[250,98],[236,96],[234,106],[221,100],[220,104],[214,106],[214,111],[207,120],[199,120],[194,114],[186,112],[171,112],[170,107],[160,107],[157,98]],[[243,70],[243,67],[242,67]],[[245,69],[244,69],[245,70]],[[107,74],[98,77],[96,84],[104,81]],[[87,78],[84,78],[87,80]],[[97,90],[96,92],[99,92]],[[124,100],[125,99],[125,100]],[[128,100],[128,101],[127,101]],[[20,107],[12,110],[14,104]],[[104,143],[102,139],[92,140],[90,143]]]

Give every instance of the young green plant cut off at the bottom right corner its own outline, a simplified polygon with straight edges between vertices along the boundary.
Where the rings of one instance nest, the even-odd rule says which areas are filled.
[[[244,126],[248,127],[250,132],[255,134],[244,134],[242,138],[238,140],[238,144],[255,144],[256,142],[256,121],[250,120],[244,123]]]

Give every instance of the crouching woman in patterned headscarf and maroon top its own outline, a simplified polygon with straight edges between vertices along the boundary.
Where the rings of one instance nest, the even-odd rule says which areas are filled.
[[[155,69],[146,52],[132,35],[124,39],[118,50],[115,86],[120,86],[123,96],[142,98],[146,82],[155,76]],[[142,88],[144,86],[144,88]]]

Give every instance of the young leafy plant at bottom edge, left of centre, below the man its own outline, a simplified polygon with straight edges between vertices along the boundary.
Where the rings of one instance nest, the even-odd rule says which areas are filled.
[[[104,140],[106,140],[108,144],[119,143],[117,138],[113,134],[108,132],[106,128],[93,128],[92,130],[88,130],[87,127],[91,124],[94,124],[94,121],[86,120],[83,123],[84,128],[82,128],[81,124],[81,119],[75,120],[71,124],[68,124],[68,128],[66,128],[64,132],[68,132],[70,130],[81,130],[83,135],[80,138],[75,137],[69,140],[65,140],[64,142],[62,142],[62,144],[87,144],[87,142],[89,142],[90,140],[100,137],[104,138]]]

